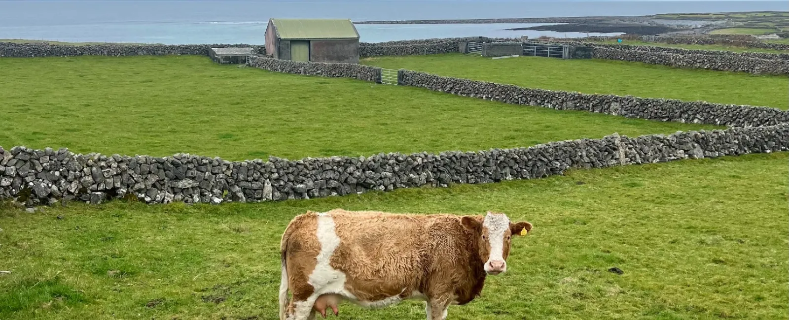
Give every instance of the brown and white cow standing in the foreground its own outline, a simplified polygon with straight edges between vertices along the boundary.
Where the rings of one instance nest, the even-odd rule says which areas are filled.
[[[447,318],[451,304],[479,296],[486,274],[507,271],[510,236],[529,222],[505,214],[387,214],[308,211],[282,234],[281,320],[337,314],[342,300],[386,307],[424,300],[428,320]],[[288,291],[293,294],[289,301]]]

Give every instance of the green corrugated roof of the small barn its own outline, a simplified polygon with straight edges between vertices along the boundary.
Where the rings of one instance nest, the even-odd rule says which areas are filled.
[[[279,39],[359,39],[350,20],[271,19]]]

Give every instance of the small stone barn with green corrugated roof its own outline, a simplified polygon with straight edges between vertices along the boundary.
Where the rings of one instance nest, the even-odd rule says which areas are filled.
[[[350,20],[271,19],[266,53],[290,61],[359,63],[359,32]]]

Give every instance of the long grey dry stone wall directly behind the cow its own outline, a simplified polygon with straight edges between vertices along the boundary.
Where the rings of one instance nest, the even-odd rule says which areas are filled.
[[[0,198],[28,206],[121,198],[145,203],[260,202],[535,179],[562,174],[570,168],[787,150],[789,125],[637,138],[612,135],[477,152],[390,153],[295,161],[271,157],[265,162],[230,162],[191,154],[156,158],[0,147]]]

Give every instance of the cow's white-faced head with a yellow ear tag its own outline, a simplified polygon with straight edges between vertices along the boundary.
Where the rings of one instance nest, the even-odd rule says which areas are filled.
[[[464,216],[462,224],[477,236],[484,270],[492,275],[507,271],[512,236],[523,236],[532,229],[529,222],[512,223],[506,214],[491,211],[482,219],[478,216]]]

